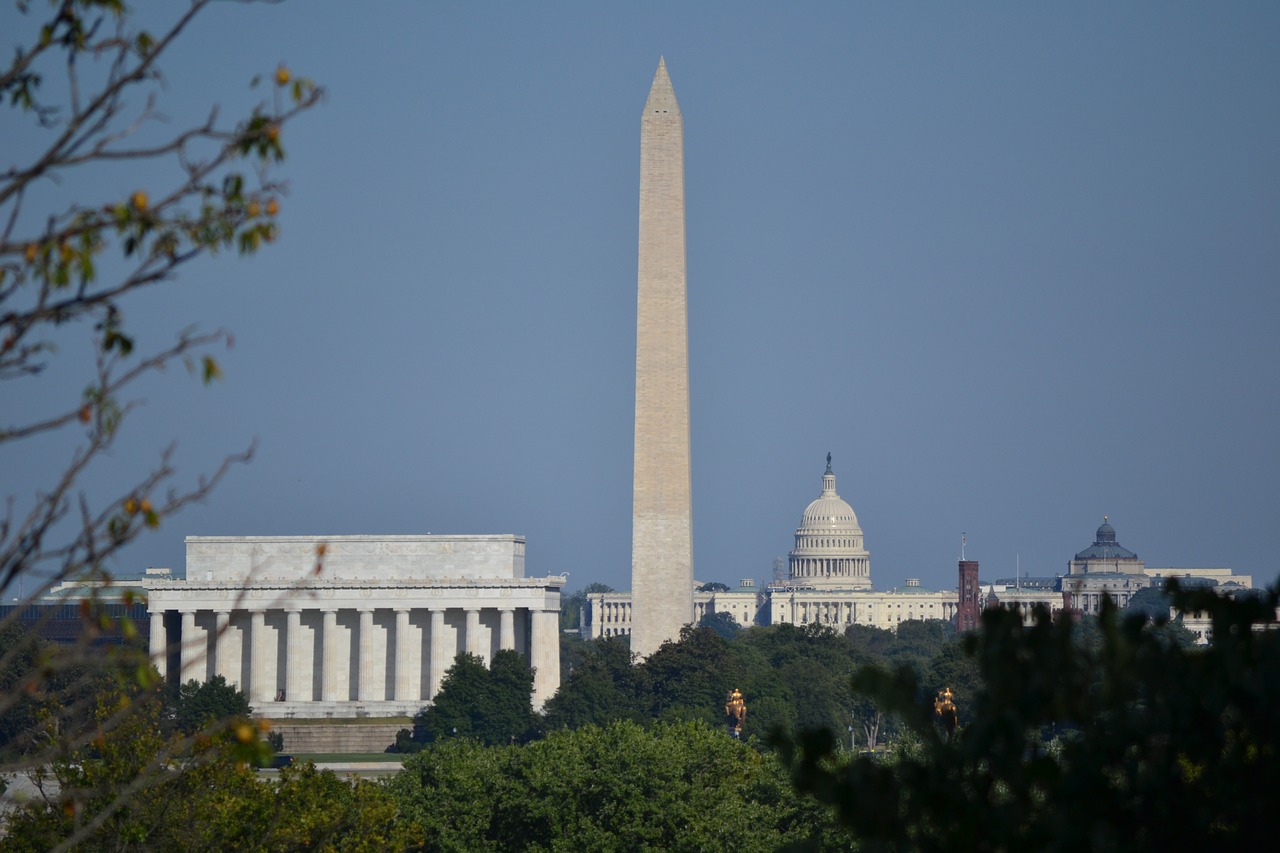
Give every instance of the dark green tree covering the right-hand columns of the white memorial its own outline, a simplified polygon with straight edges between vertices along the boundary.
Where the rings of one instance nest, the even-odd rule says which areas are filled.
[[[435,701],[413,717],[412,739],[397,738],[397,748],[410,752],[449,738],[525,743],[539,729],[532,694],[534,671],[518,652],[495,653],[490,667],[463,652],[444,674]]]

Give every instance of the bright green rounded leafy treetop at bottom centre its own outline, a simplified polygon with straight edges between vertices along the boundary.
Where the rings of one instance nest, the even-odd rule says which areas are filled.
[[[526,747],[449,742],[389,784],[438,850],[847,849],[768,754],[701,724],[614,722]]]

